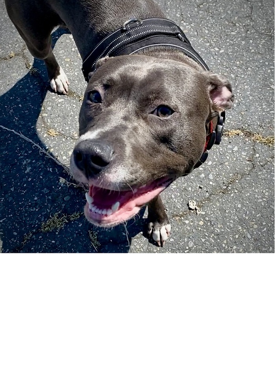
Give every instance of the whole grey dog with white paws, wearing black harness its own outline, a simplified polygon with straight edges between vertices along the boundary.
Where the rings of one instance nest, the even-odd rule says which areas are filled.
[[[54,91],[68,91],[51,49],[54,27],[67,25],[84,61],[88,86],[71,171],[90,187],[87,219],[114,226],[148,204],[146,233],[163,244],[171,226],[159,194],[219,143],[233,104],[230,83],[208,71],[151,0],[5,1]]]

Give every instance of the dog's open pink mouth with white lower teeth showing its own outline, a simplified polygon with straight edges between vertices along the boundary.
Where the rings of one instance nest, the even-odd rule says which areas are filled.
[[[114,226],[137,214],[144,204],[156,197],[173,182],[172,178],[162,177],[141,187],[126,191],[102,189],[90,186],[86,193],[84,208],[87,219],[99,226]]]

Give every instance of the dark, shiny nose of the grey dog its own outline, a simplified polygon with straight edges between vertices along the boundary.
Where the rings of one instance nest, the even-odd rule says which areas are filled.
[[[108,166],[113,152],[113,148],[107,143],[83,140],[74,147],[74,163],[87,177],[93,176]]]

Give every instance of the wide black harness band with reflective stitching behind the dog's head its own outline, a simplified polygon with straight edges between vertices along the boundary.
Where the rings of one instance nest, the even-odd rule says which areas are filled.
[[[98,59],[106,56],[132,55],[146,47],[170,46],[194,59],[203,69],[209,70],[200,55],[174,21],[168,19],[131,19],[119,30],[101,40],[83,61],[82,72],[89,81],[89,72],[95,70]]]

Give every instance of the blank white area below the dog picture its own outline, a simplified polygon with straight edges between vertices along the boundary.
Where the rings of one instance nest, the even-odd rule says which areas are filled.
[[[0,383],[273,385],[274,293],[268,254],[3,255]]]

